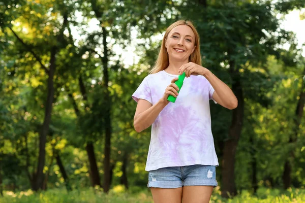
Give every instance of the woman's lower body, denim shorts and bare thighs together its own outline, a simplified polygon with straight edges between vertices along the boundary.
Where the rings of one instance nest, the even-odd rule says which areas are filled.
[[[159,168],[149,172],[147,184],[155,203],[208,203],[217,185],[215,166],[209,165]]]

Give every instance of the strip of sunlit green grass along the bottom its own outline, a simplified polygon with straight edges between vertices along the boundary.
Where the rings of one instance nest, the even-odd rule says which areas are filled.
[[[135,191],[135,190],[134,190]],[[22,203],[153,203],[153,198],[148,190],[137,192],[126,192],[123,186],[116,186],[105,194],[102,190],[98,188],[83,189],[83,190],[73,190],[67,192],[66,189],[49,189],[47,191],[42,191],[34,193],[32,190],[12,192],[5,191],[4,196],[0,196],[1,203],[12,203],[12,202],[22,202]],[[236,195],[234,198],[224,199],[220,195],[220,188],[217,187],[212,194],[210,203],[301,203],[305,202],[305,189],[268,189],[259,188],[256,195],[251,194],[247,190],[243,190],[240,194]]]

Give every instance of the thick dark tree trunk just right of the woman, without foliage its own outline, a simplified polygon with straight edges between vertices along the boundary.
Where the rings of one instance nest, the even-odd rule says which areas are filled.
[[[234,68],[234,63],[230,62],[230,69]],[[234,181],[234,163],[235,153],[238,144],[238,140],[242,128],[243,120],[243,93],[240,83],[239,74],[235,72],[234,82],[232,84],[232,91],[235,93],[238,99],[238,107],[233,110],[232,123],[229,129],[229,138],[225,141],[224,156],[222,160],[222,196],[229,197],[229,195],[236,194],[236,186]]]

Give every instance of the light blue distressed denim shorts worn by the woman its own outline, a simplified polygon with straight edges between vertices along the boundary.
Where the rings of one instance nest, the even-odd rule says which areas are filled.
[[[216,166],[187,165],[164,167],[148,172],[147,187],[178,188],[209,185],[216,187]]]

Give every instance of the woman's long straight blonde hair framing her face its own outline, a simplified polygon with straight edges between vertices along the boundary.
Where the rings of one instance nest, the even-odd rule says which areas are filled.
[[[169,59],[168,59],[168,53],[167,53],[166,48],[165,48],[165,41],[167,39],[167,36],[168,36],[169,32],[174,27],[176,27],[178,25],[188,25],[193,30],[194,35],[195,35],[195,46],[196,47],[195,47],[194,52],[190,55],[189,61],[201,65],[200,39],[199,39],[199,34],[198,34],[195,26],[189,20],[178,20],[178,21],[174,22],[173,24],[171,24],[166,29],[165,35],[164,35],[163,40],[162,40],[162,44],[161,44],[161,48],[160,48],[160,52],[159,52],[158,58],[157,58],[157,60],[155,62],[155,65],[154,65],[153,69],[151,69],[149,74],[158,73],[160,71],[165,70],[168,67]]]

